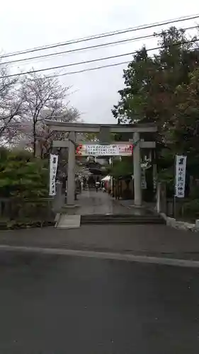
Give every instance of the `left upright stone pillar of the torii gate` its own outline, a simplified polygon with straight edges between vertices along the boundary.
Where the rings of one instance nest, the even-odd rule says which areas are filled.
[[[67,169],[67,205],[74,205],[75,193],[75,132],[69,132],[69,158]]]

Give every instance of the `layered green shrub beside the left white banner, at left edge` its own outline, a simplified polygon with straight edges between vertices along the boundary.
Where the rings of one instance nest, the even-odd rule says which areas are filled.
[[[47,196],[47,162],[28,151],[0,151],[0,195],[20,199]]]

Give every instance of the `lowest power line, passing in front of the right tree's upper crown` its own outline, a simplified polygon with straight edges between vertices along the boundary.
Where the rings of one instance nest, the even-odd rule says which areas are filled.
[[[147,52],[152,51],[152,50],[159,50],[159,49],[163,49],[166,47],[171,47],[171,46],[176,46],[176,45],[184,45],[184,44],[188,44],[188,43],[193,43],[193,42],[198,42],[199,39],[194,39],[194,40],[186,40],[184,42],[177,42],[174,43],[172,45],[164,45],[163,47],[154,47],[154,48],[149,48],[147,50]],[[125,57],[127,55],[135,55],[137,53],[137,51],[135,52],[129,52],[129,53],[124,53],[124,54],[119,54],[119,55],[111,55],[110,57],[103,57],[103,58],[97,58],[97,59],[91,59],[91,60],[86,60],[85,62],[77,62],[77,63],[71,63],[71,64],[64,64],[64,65],[59,65],[57,67],[48,67],[48,68],[43,68],[43,69],[37,69],[37,70],[31,70],[29,72],[21,72],[18,74],[10,74],[10,75],[6,75],[6,76],[1,76],[1,79],[6,79],[8,77],[13,77],[13,76],[21,76],[21,75],[25,75],[25,74],[33,74],[36,72],[47,72],[48,70],[54,70],[54,69],[62,69],[64,67],[73,67],[74,65],[81,65],[81,64],[90,64],[93,62],[99,62],[101,60],[108,60],[108,59],[113,59],[113,58],[119,58],[119,57]]]

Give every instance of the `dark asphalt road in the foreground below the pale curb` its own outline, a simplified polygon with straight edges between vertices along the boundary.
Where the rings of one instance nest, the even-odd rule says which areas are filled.
[[[0,354],[198,354],[199,269],[0,253]]]

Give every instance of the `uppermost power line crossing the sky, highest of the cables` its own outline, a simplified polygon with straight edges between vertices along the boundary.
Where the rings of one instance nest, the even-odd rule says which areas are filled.
[[[79,43],[79,42],[86,42],[88,40],[96,40],[98,38],[106,38],[106,37],[110,37],[113,35],[120,35],[123,33],[128,33],[128,32],[133,32],[136,30],[144,30],[144,29],[149,29],[149,28],[154,28],[154,27],[158,27],[161,25],[169,25],[171,23],[178,23],[181,21],[188,21],[188,20],[194,20],[195,18],[199,18],[199,14],[195,14],[193,16],[183,16],[183,17],[179,17],[176,19],[172,19],[172,20],[168,20],[168,21],[163,21],[163,22],[156,22],[156,23],[150,23],[147,25],[140,25],[137,27],[133,27],[133,28],[126,28],[124,30],[115,30],[113,32],[108,32],[108,33],[101,33],[99,35],[91,35],[89,37],[85,37],[85,38],[78,38],[76,40],[69,40],[67,42],[61,42],[61,43],[56,43],[54,45],[46,45],[46,46],[42,46],[42,47],[35,47],[33,49],[30,50],[22,50],[22,51],[18,51],[18,52],[12,52],[12,53],[8,53],[6,55],[1,55],[1,59],[2,58],[6,58],[6,57],[13,57],[16,55],[23,55],[23,54],[27,54],[30,52],[38,52],[40,50],[47,50],[47,49],[52,49],[55,47],[61,47],[64,45],[70,45],[70,44],[75,44],[75,43]]]

